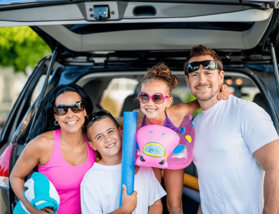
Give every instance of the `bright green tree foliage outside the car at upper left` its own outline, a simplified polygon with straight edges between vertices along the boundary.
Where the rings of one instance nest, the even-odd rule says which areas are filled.
[[[15,72],[26,73],[26,67],[34,67],[51,53],[50,47],[28,26],[0,28],[0,66],[12,66]]]

